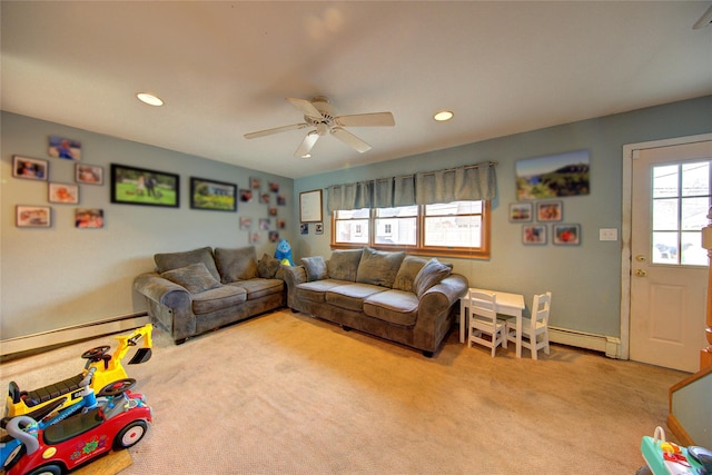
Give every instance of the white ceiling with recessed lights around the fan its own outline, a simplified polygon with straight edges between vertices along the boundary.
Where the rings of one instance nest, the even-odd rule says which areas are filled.
[[[692,29],[710,4],[3,0],[1,106],[299,178],[710,95],[712,27]],[[396,125],[349,129],[365,154],[323,137],[310,159],[293,156],[307,129],[243,137],[303,121],[285,98],[317,95]]]

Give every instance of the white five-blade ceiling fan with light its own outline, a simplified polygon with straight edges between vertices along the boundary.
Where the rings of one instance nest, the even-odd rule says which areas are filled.
[[[324,96],[317,96],[310,101],[289,97],[287,100],[304,113],[304,122],[245,133],[245,138],[254,139],[257,137],[270,136],[273,133],[286,132],[288,130],[313,127],[314,129],[307,132],[307,136],[294,152],[295,157],[310,157],[309,152],[316,141],[319,137],[326,136],[327,133],[336,137],[344,144],[363,154],[366,150],[370,150],[372,147],[346,130],[344,127],[387,127],[395,126],[396,123],[393,119],[393,113],[390,112],[337,116],[336,110]]]

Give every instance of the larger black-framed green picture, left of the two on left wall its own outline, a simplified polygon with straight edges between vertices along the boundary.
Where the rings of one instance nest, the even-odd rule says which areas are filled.
[[[111,202],[178,208],[180,177],[166,171],[111,164]]]

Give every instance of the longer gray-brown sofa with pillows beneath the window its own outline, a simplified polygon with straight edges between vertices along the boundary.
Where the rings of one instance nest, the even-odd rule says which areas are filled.
[[[287,305],[432,357],[451,330],[467,279],[452,266],[369,247],[284,268]]]

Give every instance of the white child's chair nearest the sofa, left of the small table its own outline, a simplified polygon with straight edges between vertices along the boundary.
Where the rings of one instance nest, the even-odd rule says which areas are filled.
[[[492,348],[492,357],[495,356],[497,346],[506,348],[506,323],[497,319],[497,295],[471,290],[465,305],[469,311],[467,347],[472,348],[474,343]],[[491,338],[484,338],[484,335]]]

